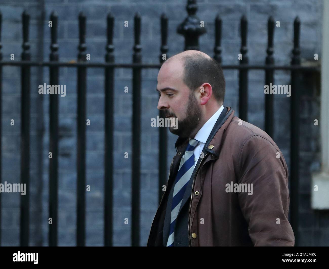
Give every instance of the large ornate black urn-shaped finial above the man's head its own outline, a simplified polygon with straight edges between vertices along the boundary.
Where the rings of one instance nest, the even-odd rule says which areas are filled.
[[[199,50],[199,36],[207,32],[205,27],[200,25],[200,19],[195,15],[197,9],[196,0],[188,0],[186,10],[189,15],[177,27],[177,33],[185,37],[184,50]]]

